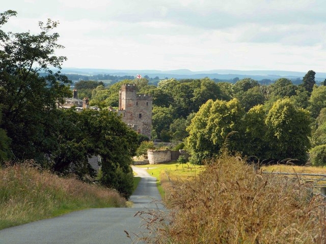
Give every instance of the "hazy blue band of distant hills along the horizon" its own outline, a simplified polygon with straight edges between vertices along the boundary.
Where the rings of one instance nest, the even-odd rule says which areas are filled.
[[[308,72],[308,71],[307,71]],[[294,71],[279,71],[279,70],[209,70],[209,71],[191,71],[187,69],[181,70],[106,70],[106,69],[77,69],[77,68],[63,68],[63,74],[79,74],[79,75],[98,75],[110,74],[116,76],[136,76],[141,74],[149,77],[176,78],[176,79],[200,79],[208,77],[210,79],[219,80],[232,80],[236,77],[239,79],[252,78],[255,80],[270,79],[276,80],[279,78],[288,79],[302,79],[307,72],[294,72]],[[326,79],[326,73],[317,73],[315,76],[316,81],[323,81]]]

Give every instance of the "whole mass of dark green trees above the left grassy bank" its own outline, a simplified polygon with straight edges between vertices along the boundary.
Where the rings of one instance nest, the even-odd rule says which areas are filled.
[[[15,15],[11,10],[1,13],[0,27]],[[0,29],[0,165],[33,159],[59,175],[82,179],[96,176],[88,157],[99,155],[98,181],[128,198],[138,136],[108,110],[58,108],[72,92],[70,80],[60,73],[66,58],[54,55],[62,48],[53,32],[57,25],[39,22],[35,35]]]

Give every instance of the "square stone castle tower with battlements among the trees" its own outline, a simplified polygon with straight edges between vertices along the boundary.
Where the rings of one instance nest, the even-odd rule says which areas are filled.
[[[135,84],[121,85],[119,114],[122,114],[122,121],[148,138],[151,138],[152,107],[153,97],[151,95],[136,94]]]

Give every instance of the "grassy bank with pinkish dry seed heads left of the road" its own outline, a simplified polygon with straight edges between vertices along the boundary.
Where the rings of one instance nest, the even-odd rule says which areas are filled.
[[[41,171],[32,161],[0,169],[0,229],[91,207],[122,207],[116,191]]]

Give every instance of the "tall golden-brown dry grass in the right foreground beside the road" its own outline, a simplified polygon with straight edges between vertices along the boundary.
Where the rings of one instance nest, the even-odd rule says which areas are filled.
[[[223,156],[169,194],[170,215],[146,212],[153,243],[325,243],[325,201],[298,179],[256,173]],[[169,225],[167,224],[170,223]],[[153,224],[154,223],[154,224]],[[162,224],[164,223],[164,224]]]

